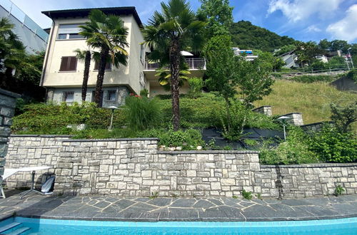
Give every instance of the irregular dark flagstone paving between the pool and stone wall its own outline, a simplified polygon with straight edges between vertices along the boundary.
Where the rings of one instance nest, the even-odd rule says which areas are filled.
[[[309,199],[229,197],[49,197],[0,199],[0,219],[12,216],[106,221],[281,221],[357,216],[357,195]]]

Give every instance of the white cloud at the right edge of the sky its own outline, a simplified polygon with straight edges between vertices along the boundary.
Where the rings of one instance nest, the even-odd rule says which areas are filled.
[[[331,23],[326,31],[331,33],[334,38],[353,41],[357,39],[357,4],[350,6],[346,11],[345,17],[341,21]]]

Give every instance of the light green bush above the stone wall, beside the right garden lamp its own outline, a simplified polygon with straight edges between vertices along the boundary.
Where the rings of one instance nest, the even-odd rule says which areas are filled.
[[[309,149],[308,136],[300,127],[288,127],[285,142],[277,147],[263,147],[259,153],[262,164],[304,164],[318,162],[316,154]]]

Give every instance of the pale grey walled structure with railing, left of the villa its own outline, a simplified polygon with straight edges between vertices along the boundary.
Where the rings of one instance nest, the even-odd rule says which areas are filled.
[[[24,43],[27,52],[35,53],[46,50],[49,33],[46,33],[10,0],[0,1],[0,18],[3,17],[9,18],[15,25],[14,33]]]

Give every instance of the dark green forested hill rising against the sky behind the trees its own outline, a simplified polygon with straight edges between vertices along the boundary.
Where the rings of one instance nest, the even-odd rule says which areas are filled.
[[[233,45],[241,49],[274,51],[281,46],[293,44],[288,36],[279,36],[266,28],[254,26],[250,21],[238,21],[231,26]]]

